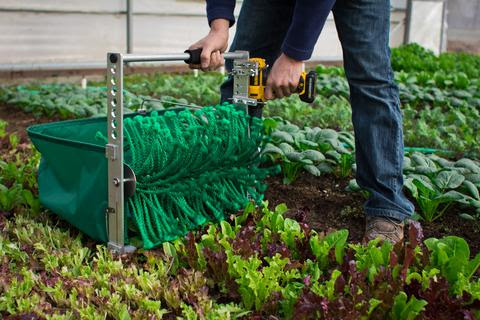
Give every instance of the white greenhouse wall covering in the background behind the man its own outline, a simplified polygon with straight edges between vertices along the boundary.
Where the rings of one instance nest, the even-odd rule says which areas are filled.
[[[412,15],[418,21],[410,28],[410,39],[438,50],[442,10],[437,6],[443,2],[414,2],[423,3],[418,16]],[[392,2],[391,46],[405,40],[405,3]],[[132,0],[132,4],[133,52],[182,52],[208,31],[204,0]],[[237,13],[239,8],[240,4]],[[0,66],[103,63],[106,52],[126,51],[125,10],[126,0],[2,0]],[[341,60],[341,56],[330,16],[312,60]]]

